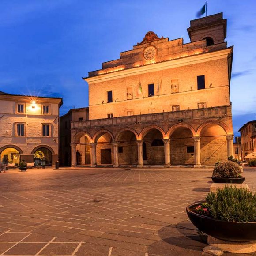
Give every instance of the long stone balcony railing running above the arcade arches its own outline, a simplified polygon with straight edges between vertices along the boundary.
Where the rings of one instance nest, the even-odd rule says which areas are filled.
[[[221,106],[213,108],[204,109],[191,109],[191,110],[181,110],[175,112],[162,112],[162,113],[152,113],[143,114],[135,116],[126,117],[113,117],[113,118],[102,118],[94,119],[88,121],[76,121],[71,122],[71,129],[74,128],[91,128],[97,126],[113,126],[118,124],[136,124],[136,123],[147,123],[147,122],[157,122],[166,120],[184,120],[184,119],[201,119],[207,117],[223,117],[231,116],[231,106]]]

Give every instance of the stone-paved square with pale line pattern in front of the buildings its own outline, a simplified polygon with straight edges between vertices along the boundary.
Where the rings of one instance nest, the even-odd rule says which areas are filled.
[[[255,168],[244,176],[256,187]],[[0,255],[202,255],[185,207],[204,199],[210,177],[203,168],[0,173]]]

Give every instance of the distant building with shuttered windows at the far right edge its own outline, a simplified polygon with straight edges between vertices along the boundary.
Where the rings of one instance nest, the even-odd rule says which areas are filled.
[[[247,122],[238,132],[241,133],[242,158],[256,152],[256,120]]]

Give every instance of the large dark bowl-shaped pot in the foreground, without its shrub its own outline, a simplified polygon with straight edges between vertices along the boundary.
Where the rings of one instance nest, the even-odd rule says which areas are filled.
[[[201,203],[191,204],[186,209],[190,221],[200,231],[225,241],[247,242],[256,240],[256,222],[227,222],[193,212],[192,209]]]

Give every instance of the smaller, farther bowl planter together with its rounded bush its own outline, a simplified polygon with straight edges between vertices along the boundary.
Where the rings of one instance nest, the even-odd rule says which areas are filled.
[[[217,162],[212,177],[214,183],[243,183],[245,177],[240,174],[239,165],[232,161]]]

